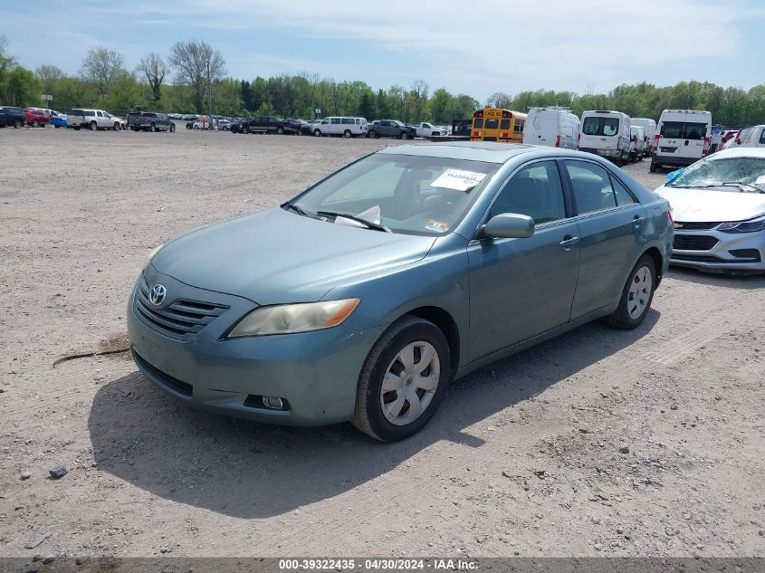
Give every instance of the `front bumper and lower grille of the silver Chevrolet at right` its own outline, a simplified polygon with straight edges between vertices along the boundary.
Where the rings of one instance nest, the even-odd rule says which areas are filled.
[[[674,237],[673,264],[708,272],[765,271],[765,231],[722,233],[713,229],[676,229]],[[694,248],[687,248],[692,245]]]

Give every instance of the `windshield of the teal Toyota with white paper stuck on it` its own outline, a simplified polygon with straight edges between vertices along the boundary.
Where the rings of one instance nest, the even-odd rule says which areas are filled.
[[[354,215],[394,233],[446,234],[499,167],[464,159],[375,154],[311,187],[293,205],[309,216]]]

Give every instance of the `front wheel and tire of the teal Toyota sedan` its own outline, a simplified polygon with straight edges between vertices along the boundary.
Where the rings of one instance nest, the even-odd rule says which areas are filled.
[[[406,371],[401,356],[406,356],[406,349],[412,354],[412,365]],[[417,371],[423,352],[432,353],[424,369]],[[414,362],[416,358],[417,363]],[[421,376],[422,372],[428,372]],[[397,374],[405,374],[406,378]],[[384,393],[383,382],[387,378],[400,383],[397,389]],[[378,339],[369,352],[359,376],[356,393],[356,408],[351,423],[359,430],[382,442],[397,442],[419,432],[435,415],[435,411],[444,398],[446,387],[452,378],[449,344],[444,333],[432,322],[414,316],[405,316],[397,320]],[[420,383],[426,387],[418,387]],[[409,413],[416,412],[416,399],[420,413],[407,421]],[[398,404],[398,406],[396,406]],[[391,406],[389,416],[383,411],[384,405]]]

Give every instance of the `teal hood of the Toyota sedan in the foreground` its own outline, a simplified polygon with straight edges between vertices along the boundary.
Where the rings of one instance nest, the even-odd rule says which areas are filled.
[[[180,282],[266,305],[319,301],[340,284],[415,263],[434,243],[275,207],[181,235],[151,263]]]

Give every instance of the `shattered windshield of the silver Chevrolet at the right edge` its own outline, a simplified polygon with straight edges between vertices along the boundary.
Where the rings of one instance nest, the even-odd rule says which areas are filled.
[[[732,192],[765,190],[765,158],[712,155],[686,167],[666,186],[728,189]]]

